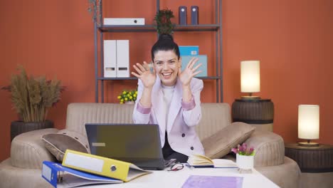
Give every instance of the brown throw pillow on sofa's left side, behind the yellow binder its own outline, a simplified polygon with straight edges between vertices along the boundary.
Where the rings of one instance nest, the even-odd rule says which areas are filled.
[[[43,135],[42,140],[46,149],[60,162],[63,161],[67,149],[90,153],[87,137],[78,132],[60,130],[56,134]]]

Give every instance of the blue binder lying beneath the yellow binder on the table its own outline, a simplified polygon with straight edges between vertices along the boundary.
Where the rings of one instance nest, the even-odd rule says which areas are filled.
[[[53,187],[57,187],[58,185],[63,187],[78,187],[87,184],[122,183],[122,180],[119,179],[102,177],[76,169],[70,169],[63,167],[63,165],[59,163],[50,161],[43,162],[42,177],[52,184]]]

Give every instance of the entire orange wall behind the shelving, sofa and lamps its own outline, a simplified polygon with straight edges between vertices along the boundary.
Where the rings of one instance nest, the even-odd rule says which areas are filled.
[[[178,6],[199,5],[200,23],[213,23],[213,0],[162,1],[177,17]],[[128,6],[132,4],[133,6]],[[94,102],[93,22],[83,0],[0,1],[0,85],[8,85],[16,65],[28,74],[57,76],[67,87],[60,103],[49,112],[56,127],[65,127],[68,103]],[[144,17],[152,23],[154,0],[105,0],[105,16]],[[127,7],[127,8],[126,8]],[[223,95],[226,103],[239,98],[240,61],[261,61],[262,98],[275,103],[274,132],[286,142],[297,141],[297,105],[320,105],[319,142],[333,145],[332,50],[333,12],[330,0],[224,0],[223,1]],[[126,9],[125,9],[126,8]],[[125,11],[126,10],[126,11]],[[188,19],[190,16],[188,16]],[[175,22],[178,19],[174,19]],[[189,22],[189,20],[188,20]],[[200,53],[215,56],[212,32],[175,33],[179,45],[199,44]],[[129,39],[130,62],[149,61],[154,33],[107,34],[105,38]],[[205,38],[198,40],[197,38]],[[208,66],[213,74],[214,67]],[[134,81],[107,82],[106,101],[115,103],[122,89]],[[331,84],[332,85],[332,84]],[[214,102],[215,85],[205,81],[203,102]],[[0,91],[0,161],[9,157],[10,123],[17,120],[9,93]]]

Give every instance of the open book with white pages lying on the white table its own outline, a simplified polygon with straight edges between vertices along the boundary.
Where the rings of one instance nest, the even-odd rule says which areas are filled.
[[[233,162],[232,160],[211,160],[210,158],[199,154],[191,155],[189,160],[187,160],[187,163],[191,167],[237,168],[236,162]]]

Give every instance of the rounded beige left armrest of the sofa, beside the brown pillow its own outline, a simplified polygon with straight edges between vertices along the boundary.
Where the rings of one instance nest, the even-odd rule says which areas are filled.
[[[11,165],[26,169],[41,169],[44,160],[56,160],[41,141],[41,135],[58,132],[55,128],[33,130],[11,141]]]

